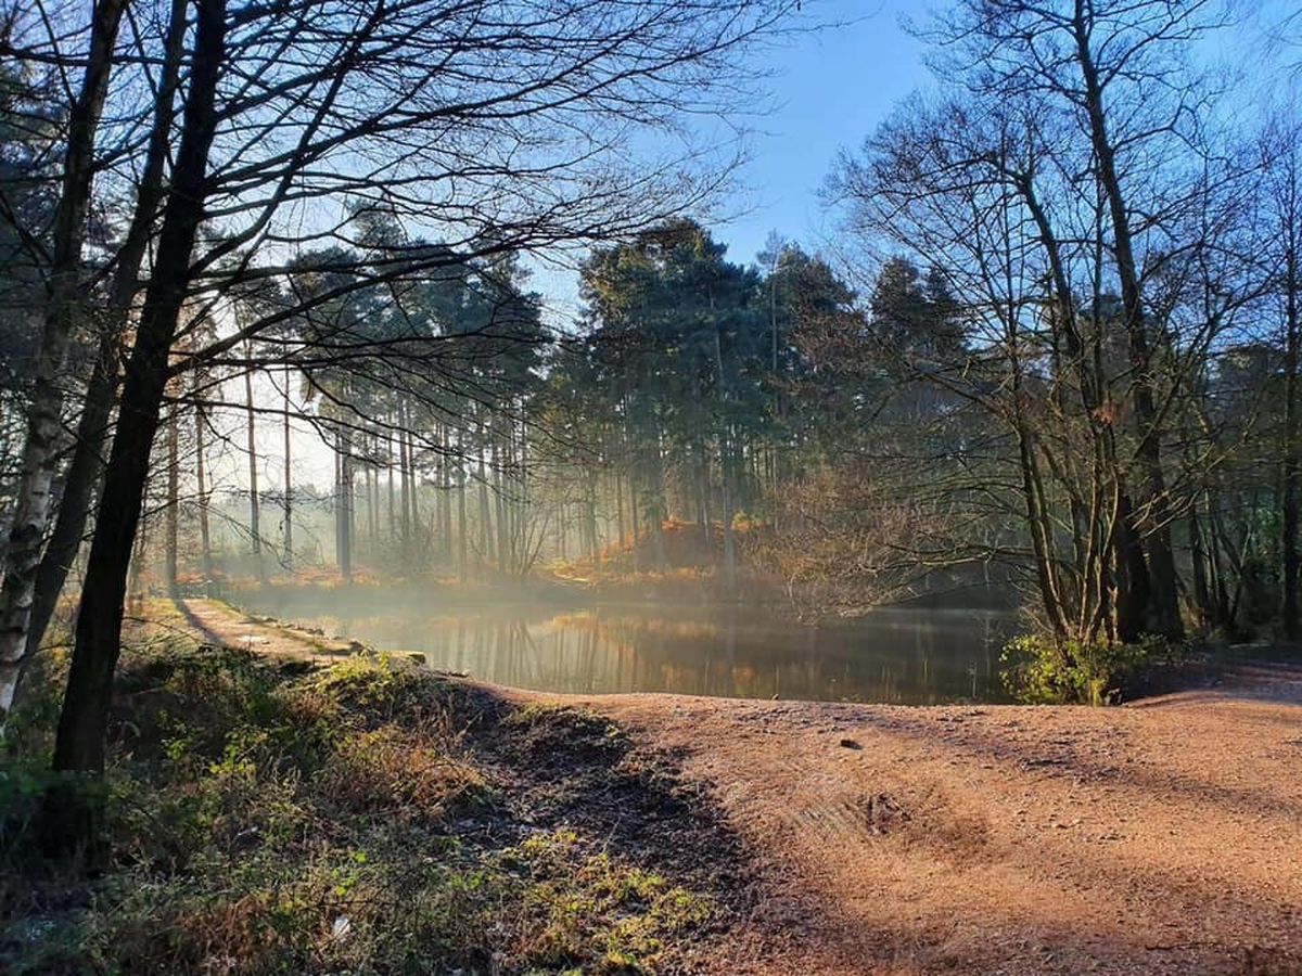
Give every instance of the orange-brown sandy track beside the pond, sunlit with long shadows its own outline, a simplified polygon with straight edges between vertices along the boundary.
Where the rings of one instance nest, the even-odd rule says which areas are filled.
[[[717,800],[766,878],[719,972],[1302,973],[1299,669],[1109,709],[504,694],[609,714]]]

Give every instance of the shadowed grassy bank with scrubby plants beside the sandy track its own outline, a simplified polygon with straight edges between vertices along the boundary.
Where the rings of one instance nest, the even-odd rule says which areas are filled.
[[[745,911],[737,842],[603,718],[182,639],[124,655],[87,881],[35,841],[57,671],[0,769],[4,972],[711,971]]]

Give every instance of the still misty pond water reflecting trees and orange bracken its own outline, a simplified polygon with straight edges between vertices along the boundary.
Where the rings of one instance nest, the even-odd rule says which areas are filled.
[[[1005,700],[1006,617],[980,610],[880,610],[803,627],[754,609],[493,608],[342,614],[328,599],[249,595],[271,613],[430,666],[540,691],[671,691],[728,698],[931,704]],[[316,605],[311,605],[316,604]]]

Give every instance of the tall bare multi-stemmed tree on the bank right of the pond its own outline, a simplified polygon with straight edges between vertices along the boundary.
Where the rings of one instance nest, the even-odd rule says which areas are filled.
[[[1210,9],[960,4],[931,36],[965,94],[901,112],[835,181],[857,230],[940,264],[973,310],[969,360],[926,375],[1012,432],[1060,638],[1182,629],[1164,450],[1190,364],[1243,301],[1208,277],[1234,180],[1185,62]]]

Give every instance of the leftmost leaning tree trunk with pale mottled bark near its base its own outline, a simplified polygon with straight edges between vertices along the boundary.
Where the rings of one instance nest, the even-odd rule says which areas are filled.
[[[82,242],[95,174],[95,135],[125,5],[125,0],[99,0],[95,5],[86,73],[68,117],[68,148],[64,152],[49,265],[49,305],[27,405],[22,466],[13,491],[14,509],[4,548],[4,580],[0,583],[0,731],[13,707],[18,674],[27,652],[36,576],[52,510],[66,381],[64,372],[81,318]],[[38,643],[39,639],[38,635]]]

